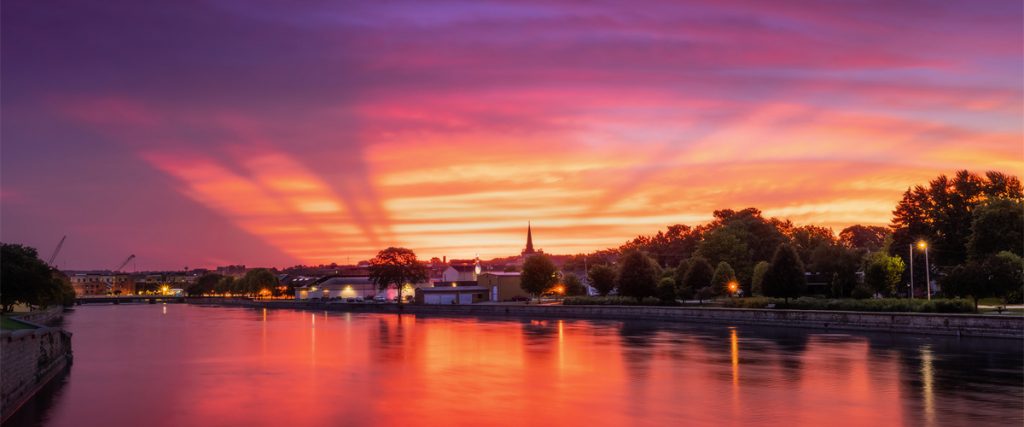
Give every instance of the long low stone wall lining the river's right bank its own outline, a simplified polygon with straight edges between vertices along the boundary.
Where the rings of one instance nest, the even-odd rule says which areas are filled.
[[[194,298],[189,299],[188,302],[203,305],[226,305],[254,308],[292,308],[341,312],[599,318],[612,321],[644,319],[771,326],[817,329],[824,331],[871,331],[898,334],[946,335],[956,337],[987,337],[1024,340],[1024,317],[981,314],[608,305],[398,305],[281,300],[253,301],[222,298]]]

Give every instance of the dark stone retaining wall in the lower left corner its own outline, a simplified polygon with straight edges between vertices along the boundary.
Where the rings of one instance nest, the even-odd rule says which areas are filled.
[[[6,420],[71,359],[71,333],[60,329],[0,332],[0,417]]]

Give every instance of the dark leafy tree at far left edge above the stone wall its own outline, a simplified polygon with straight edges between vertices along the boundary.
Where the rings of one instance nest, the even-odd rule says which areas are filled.
[[[71,282],[43,262],[35,248],[0,244],[0,306],[4,312],[19,303],[42,307],[75,303]]]

